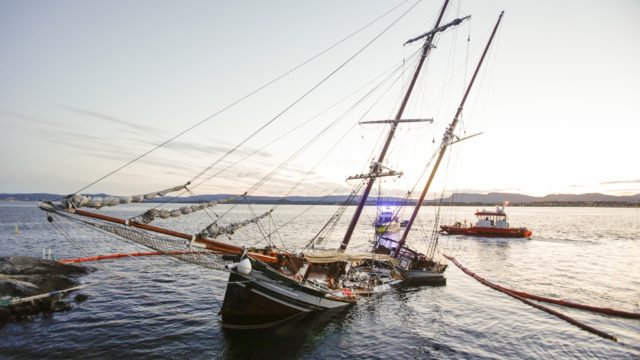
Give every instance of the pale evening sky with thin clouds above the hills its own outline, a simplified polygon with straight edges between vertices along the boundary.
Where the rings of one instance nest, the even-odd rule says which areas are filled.
[[[358,122],[395,115],[420,48],[403,43],[441,6],[0,1],[0,193],[348,192],[387,129]],[[439,35],[403,116],[434,122],[400,126],[385,166],[404,176],[381,188],[424,182],[503,10],[457,131],[482,135],[452,147],[433,191],[640,193],[636,0],[451,1],[446,22],[472,17]]]

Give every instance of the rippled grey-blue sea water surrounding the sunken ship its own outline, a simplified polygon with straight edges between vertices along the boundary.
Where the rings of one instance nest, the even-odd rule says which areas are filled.
[[[221,206],[222,214],[230,206]],[[256,213],[268,206],[254,206]],[[143,206],[110,210],[132,217]],[[297,214],[305,211],[302,216]],[[301,246],[335,207],[281,206],[276,224],[293,220],[272,240]],[[424,248],[433,209],[424,208],[413,245]],[[472,220],[476,208],[443,210],[444,223]],[[347,217],[350,210],[347,210]],[[249,217],[247,206],[233,216]],[[509,208],[512,226],[533,230],[531,240],[441,236],[439,251],[495,283],[549,297],[640,312],[640,209]],[[375,208],[366,209],[353,249],[372,239]],[[206,215],[160,220],[195,233]],[[348,219],[334,232],[338,240]],[[267,229],[274,224],[265,223]],[[0,203],[0,255],[57,258],[140,251],[132,245],[47,223],[35,203]],[[260,239],[238,232],[239,243]],[[450,264],[444,287],[398,289],[336,314],[281,327],[233,332],[218,311],[227,275],[161,257],[92,263],[83,278],[89,299],[67,312],[40,315],[0,328],[0,358],[300,358],[300,359],[631,359],[640,357],[640,321],[549,305],[619,338],[613,342],[496,292]]]

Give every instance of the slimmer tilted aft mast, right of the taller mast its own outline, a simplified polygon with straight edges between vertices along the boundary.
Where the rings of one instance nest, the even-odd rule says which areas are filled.
[[[462,101],[460,101],[460,106],[458,106],[458,111],[456,111],[456,115],[453,117],[453,120],[451,121],[451,124],[449,125],[449,127],[447,128],[447,130],[444,133],[444,136],[442,137],[442,143],[440,144],[440,153],[438,154],[438,158],[436,160],[436,163],[433,165],[433,169],[431,170],[431,174],[429,175],[429,179],[427,180],[427,183],[424,185],[424,188],[422,189],[422,193],[420,194],[420,198],[418,199],[418,203],[416,204],[415,208],[413,209],[413,213],[411,214],[411,218],[409,218],[409,222],[407,223],[407,226],[404,230],[404,233],[402,234],[402,238],[400,238],[400,243],[398,245],[398,248],[396,249],[395,254],[393,255],[394,257],[398,257],[398,254],[400,254],[400,249],[402,249],[402,246],[405,244],[405,242],[407,241],[407,236],[409,235],[409,231],[411,230],[411,226],[413,225],[413,222],[416,220],[416,217],[418,216],[418,211],[420,211],[420,207],[422,207],[422,202],[424,201],[424,198],[427,196],[427,192],[429,191],[429,187],[431,186],[431,182],[433,181],[433,178],[436,175],[436,172],[438,171],[438,167],[440,166],[440,162],[442,161],[442,158],[444,157],[445,152],[447,151],[447,147],[449,146],[449,143],[451,142],[451,139],[453,137],[453,131],[456,128],[456,125],[458,124],[458,120],[460,119],[460,115],[462,114],[462,109],[464,107],[464,103],[467,101],[467,96],[469,96],[469,92],[471,91],[471,87],[473,87],[473,83],[476,80],[476,77],[478,76],[478,72],[480,71],[480,67],[482,66],[482,63],[484,62],[484,58],[487,55],[487,52],[489,51],[489,47],[491,46],[491,42],[493,41],[493,37],[496,35],[496,31],[498,31],[498,26],[500,26],[500,20],[502,20],[502,15],[504,15],[504,11],[500,13],[500,17],[498,17],[498,21],[496,22],[495,27],[493,28],[493,32],[491,33],[491,37],[489,37],[489,41],[487,42],[487,45],[484,48],[484,52],[482,53],[482,56],[480,57],[480,61],[478,62],[478,66],[476,66],[476,70],[473,73],[473,77],[471,78],[471,81],[469,81],[469,85],[467,86],[467,90],[464,93],[464,96],[462,97]]]

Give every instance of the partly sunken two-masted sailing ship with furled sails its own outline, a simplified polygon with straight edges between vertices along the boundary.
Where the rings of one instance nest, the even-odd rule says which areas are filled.
[[[61,220],[74,225],[88,226],[102,233],[112,234],[155,251],[166,253],[168,256],[185,262],[209,269],[227,271],[229,279],[220,315],[223,326],[228,328],[268,327],[304,314],[344,309],[354,304],[361,296],[388,291],[390,286],[398,283],[397,279],[386,277],[384,273],[372,270],[368,266],[361,266],[362,264],[386,264],[387,267],[400,269],[404,278],[409,280],[423,277],[424,274],[427,274],[427,269],[429,271],[434,269],[433,264],[430,264],[429,259],[424,255],[405,246],[406,236],[415,220],[419,206],[414,210],[407,228],[399,240],[399,247],[395,251],[381,254],[379,251],[353,253],[346,252],[346,250],[373,183],[380,177],[397,175],[394,171],[385,171],[382,164],[398,125],[408,121],[403,120],[402,115],[427,54],[433,47],[432,41],[435,34],[464,20],[456,19],[446,25],[440,25],[447,4],[448,0],[445,1],[433,30],[410,40],[424,39],[421,58],[395,118],[386,121],[390,124],[390,128],[377,161],[371,164],[368,174],[351,177],[351,179],[362,180],[366,185],[338,249],[310,249],[300,253],[278,248],[273,243],[264,247],[256,247],[220,240],[224,237],[231,239],[237,230],[245,226],[260,224],[261,220],[272,216],[272,211],[255,214],[250,219],[228,225],[221,225],[219,219],[215,219],[210,225],[195,233],[183,233],[150,225],[158,218],[186,216],[198,211],[207,212],[209,208],[220,203],[233,202],[237,198],[242,198],[246,193],[239,197],[186,205],[177,209],[154,207],[139,216],[128,219],[82,210],[82,208],[101,209],[120,204],[141,203],[174,192],[191,193],[191,181],[184,185],[135,196],[101,197],[75,193],[59,201],[42,202],[40,208],[47,212],[48,219],[53,224],[56,223],[54,220]],[[499,22],[500,20],[493,30],[473,79],[477,75]],[[469,90],[470,87],[467,89],[465,99]],[[464,104],[464,100],[462,104]],[[445,132],[438,162],[453,139],[453,131],[462,111],[462,104],[452,124]],[[428,184],[434,174],[435,170]],[[428,185],[425,187],[424,193],[427,188]],[[419,204],[421,202],[422,198]],[[341,207],[340,211],[344,212],[345,208],[346,204]],[[319,234],[329,228],[331,224],[335,224],[340,215],[342,215],[341,212],[333,216],[318,232],[318,235],[311,239],[309,242],[312,244],[311,248],[317,240],[321,239]],[[64,233],[61,232],[61,234]],[[414,273],[417,275],[413,275]]]

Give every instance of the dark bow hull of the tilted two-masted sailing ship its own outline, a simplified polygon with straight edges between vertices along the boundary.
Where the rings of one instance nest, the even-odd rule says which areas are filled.
[[[269,270],[249,275],[232,271],[220,315],[226,328],[252,329],[278,325],[313,312],[346,308],[351,298],[301,286]]]

